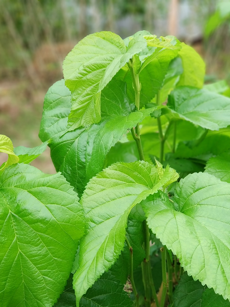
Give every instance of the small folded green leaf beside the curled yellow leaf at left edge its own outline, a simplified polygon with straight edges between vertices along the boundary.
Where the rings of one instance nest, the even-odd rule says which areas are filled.
[[[46,141],[34,148],[28,148],[24,146],[18,146],[14,148],[14,153],[19,157],[18,163],[30,163],[45,151],[48,143],[49,141]]]

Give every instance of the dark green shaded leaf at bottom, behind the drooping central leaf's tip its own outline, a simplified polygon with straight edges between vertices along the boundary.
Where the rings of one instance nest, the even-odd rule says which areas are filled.
[[[69,285],[61,294],[54,307],[75,307],[76,297],[72,289],[72,278]],[[123,290],[119,280],[110,272],[104,273],[101,278],[88,289],[80,300],[80,307],[131,307],[132,302],[127,293]]]

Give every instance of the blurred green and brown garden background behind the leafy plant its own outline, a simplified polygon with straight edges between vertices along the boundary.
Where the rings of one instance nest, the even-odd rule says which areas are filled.
[[[142,29],[192,45],[206,83],[230,84],[230,0],[0,0],[0,134],[14,146],[41,144],[44,96],[73,46],[101,30],[125,38]],[[48,148],[32,164],[55,172]]]

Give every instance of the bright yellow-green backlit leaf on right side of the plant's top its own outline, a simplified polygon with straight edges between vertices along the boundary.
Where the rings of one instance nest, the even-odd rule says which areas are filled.
[[[177,85],[203,87],[205,77],[204,61],[192,47],[185,43],[181,43],[181,47],[178,55],[181,57],[184,72]]]

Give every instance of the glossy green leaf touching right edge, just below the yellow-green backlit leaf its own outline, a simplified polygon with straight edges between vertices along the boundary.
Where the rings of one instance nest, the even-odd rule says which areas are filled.
[[[177,87],[167,106],[181,118],[203,128],[219,130],[230,125],[230,98],[195,87]]]

